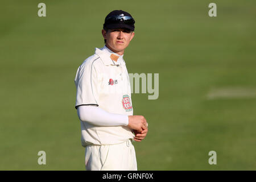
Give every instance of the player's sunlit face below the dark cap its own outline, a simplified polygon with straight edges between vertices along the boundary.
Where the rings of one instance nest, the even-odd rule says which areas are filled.
[[[106,39],[106,46],[110,47],[114,52],[123,53],[134,37],[134,32],[123,29],[111,29],[108,32],[102,30],[102,35]]]

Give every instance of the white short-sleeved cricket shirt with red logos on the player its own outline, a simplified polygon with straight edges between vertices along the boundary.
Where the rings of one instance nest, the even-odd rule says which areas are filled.
[[[118,57],[117,57],[118,56]],[[76,109],[81,105],[95,105],[109,113],[133,115],[129,75],[120,56],[104,46],[96,48],[77,69]],[[96,126],[81,122],[82,146],[89,144],[117,144],[134,138],[127,126]]]

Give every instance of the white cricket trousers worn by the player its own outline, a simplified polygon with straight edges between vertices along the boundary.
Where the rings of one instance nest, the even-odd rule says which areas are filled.
[[[85,147],[87,171],[137,171],[137,161],[131,140],[111,145]]]

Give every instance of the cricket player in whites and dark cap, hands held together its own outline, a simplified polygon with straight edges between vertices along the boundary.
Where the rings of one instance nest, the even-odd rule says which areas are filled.
[[[85,147],[86,170],[137,170],[132,141],[142,141],[148,124],[133,115],[129,75],[123,53],[134,37],[133,17],[110,12],[104,23],[103,48],[96,48],[77,69],[76,106]]]

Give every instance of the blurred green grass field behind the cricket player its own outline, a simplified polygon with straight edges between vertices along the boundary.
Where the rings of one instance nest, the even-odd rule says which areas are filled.
[[[139,170],[255,170],[256,98],[209,99],[256,88],[255,1],[3,1],[0,6],[0,169],[84,170],[75,110],[77,68],[103,47],[105,16],[128,11],[130,73],[159,73],[159,98],[133,94],[149,132],[134,143]],[[38,151],[46,151],[39,165]],[[209,165],[209,151],[217,165]]]

